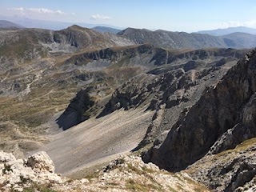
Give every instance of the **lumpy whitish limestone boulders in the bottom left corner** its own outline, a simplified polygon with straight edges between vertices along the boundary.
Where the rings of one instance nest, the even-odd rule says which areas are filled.
[[[65,179],[54,174],[54,164],[46,152],[29,158],[16,159],[13,154],[0,150],[0,190],[22,191],[33,183],[62,183]]]

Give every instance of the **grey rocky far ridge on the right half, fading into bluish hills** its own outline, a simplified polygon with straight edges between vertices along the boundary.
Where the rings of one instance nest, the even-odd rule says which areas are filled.
[[[150,43],[167,49],[202,49],[206,47],[241,49],[256,46],[256,35],[245,33],[217,37],[210,34],[188,34],[166,30],[151,31],[127,28],[120,31],[118,35],[130,39],[136,44]]]

